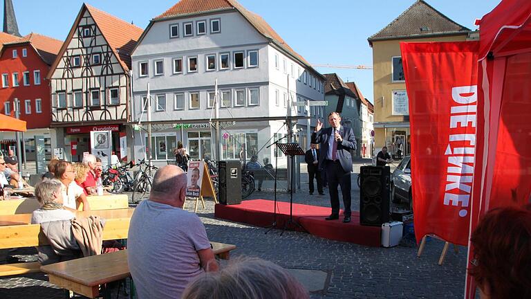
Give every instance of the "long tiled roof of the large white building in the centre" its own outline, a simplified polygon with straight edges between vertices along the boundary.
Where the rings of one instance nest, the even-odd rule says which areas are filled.
[[[161,15],[153,18],[149,24],[156,21],[163,21],[165,19],[172,19],[176,17],[187,17],[191,15],[198,15],[202,13],[221,12],[225,10],[236,10],[247,19],[247,21],[258,32],[268,39],[272,44],[279,47],[282,51],[295,58],[304,64],[308,69],[313,70],[317,75],[321,75],[317,70],[313,68],[299,53],[295,52],[280,35],[274,31],[271,26],[259,15],[254,12],[250,12],[238,3],[236,0],[180,0],[174,6],[163,12]],[[148,29],[149,29],[148,26]],[[146,30],[147,31],[147,30]],[[322,76],[322,75],[321,75]],[[322,76],[324,79],[324,77]]]

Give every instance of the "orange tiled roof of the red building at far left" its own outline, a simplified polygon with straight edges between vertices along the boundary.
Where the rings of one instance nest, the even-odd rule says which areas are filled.
[[[46,64],[51,65],[57,57],[57,53],[61,50],[63,42],[59,39],[52,37],[47,37],[46,35],[39,35],[38,33],[30,33],[24,37],[19,37],[19,39],[7,42],[5,46],[12,45],[21,45],[21,44],[30,44],[35,51],[41,56],[42,60]]]

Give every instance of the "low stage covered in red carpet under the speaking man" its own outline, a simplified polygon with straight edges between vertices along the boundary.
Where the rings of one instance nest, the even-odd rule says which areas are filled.
[[[273,206],[273,201],[265,199],[242,201],[232,206],[218,203],[214,215],[220,219],[265,227],[272,223]],[[352,212],[352,220],[348,224],[342,222],[343,211],[339,214],[338,220],[326,221],[324,217],[330,215],[330,208],[293,203],[293,219],[312,235],[364,246],[380,246],[380,227],[361,226],[360,212]],[[289,218],[290,203],[277,202],[277,228],[283,228]]]

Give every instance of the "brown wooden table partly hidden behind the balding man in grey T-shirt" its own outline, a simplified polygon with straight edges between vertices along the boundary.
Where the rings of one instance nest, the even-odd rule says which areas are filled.
[[[228,260],[235,245],[210,242],[217,257]],[[82,257],[77,260],[59,262],[41,266],[41,271],[48,273],[50,283],[62,289],[68,289],[88,298],[100,296],[100,284],[129,278],[127,250]],[[110,298],[108,289],[104,298]]]

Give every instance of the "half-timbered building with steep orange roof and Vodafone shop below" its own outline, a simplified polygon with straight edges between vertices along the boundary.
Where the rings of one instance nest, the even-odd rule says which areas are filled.
[[[52,127],[66,157],[79,161],[90,150],[91,131],[112,131],[113,150],[127,156],[131,97],[130,53],[142,29],[83,4],[48,73]],[[120,150],[121,149],[121,150]]]

